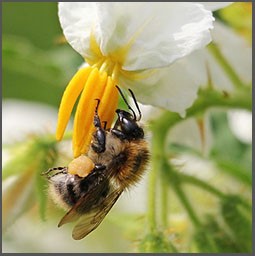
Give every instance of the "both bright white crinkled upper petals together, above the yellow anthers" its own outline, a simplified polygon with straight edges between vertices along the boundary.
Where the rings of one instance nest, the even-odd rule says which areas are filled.
[[[59,19],[66,39],[85,59],[98,60],[91,34],[106,57],[127,47],[124,61],[114,56],[126,71],[164,67],[203,47],[213,21],[199,4],[145,2],[59,3]]]

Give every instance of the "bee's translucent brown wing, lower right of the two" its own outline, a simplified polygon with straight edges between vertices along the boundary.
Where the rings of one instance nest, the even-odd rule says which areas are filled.
[[[98,227],[104,217],[113,207],[122,193],[122,189],[116,189],[111,192],[105,199],[92,209],[88,214],[83,215],[73,229],[73,239],[79,240],[87,236],[91,231]]]

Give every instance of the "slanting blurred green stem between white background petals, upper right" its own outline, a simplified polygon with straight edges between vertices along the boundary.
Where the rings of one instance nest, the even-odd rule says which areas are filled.
[[[209,51],[212,53],[216,61],[219,63],[219,65],[222,67],[222,69],[225,71],[231,82],[234,84],[236,88],[240,88],[243,85],[241,79],[236,74],[235,70],[232,68],[232,66],[229,64],[229,62],[226,60],[224,55],[221,53],[219,47],[215,43],[210,43],[207,47]]]

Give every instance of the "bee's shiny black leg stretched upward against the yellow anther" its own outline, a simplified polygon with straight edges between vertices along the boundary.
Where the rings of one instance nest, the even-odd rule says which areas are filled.
[[[99,99],[98,105],[99,105]],[[96,127],[96,131],[93,134],[94,140],[92,142],[92,149],[96,153],[102,153],[105,151],[105,130],[101,126],[101,121],[97,113],[98,105],[96,107],[95,116],[94,116],[94,125]]]

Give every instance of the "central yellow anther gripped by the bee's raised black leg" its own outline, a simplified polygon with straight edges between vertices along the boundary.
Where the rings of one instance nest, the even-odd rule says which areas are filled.
[[[95,99],[102,98],[106,81],[106,72],[101,73],[97,68],[94,68],[88,77],[75,114],[73,133],[74,157],[78,157],[81,154],[81,149],[84,143],[87,142],[86,138],[91,139],[92,132],[90,127],[93,126],[97,104]]]

